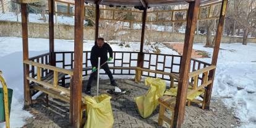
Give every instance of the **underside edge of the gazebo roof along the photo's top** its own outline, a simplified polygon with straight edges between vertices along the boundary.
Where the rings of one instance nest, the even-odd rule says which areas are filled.
[[[42,0],[18,0],[19,2],[29,3],[29,2],[39,2]],[[170,6],[176,4],[187,4],[187,2],[195,0],[85,0],[89,3],[98,3],[102,5],[112,5],[112,6]],[[70,0],[69,0],[70,2]],[[221,2],[221,0],[200,0],[200,5],[204,6],[207,4],[214,4],[216,2]]]

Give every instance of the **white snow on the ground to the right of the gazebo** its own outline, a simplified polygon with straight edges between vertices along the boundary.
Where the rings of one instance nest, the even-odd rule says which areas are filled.
[[[194,44],[194,49],[213,49],[203,44]],[[221,44],[213,85],[213,95],[223,98],[228,108],[236,109],[236,116],[242,121],[241,127],[256,127],[256,44]],[[211,62],[211,58],[200,59]]]

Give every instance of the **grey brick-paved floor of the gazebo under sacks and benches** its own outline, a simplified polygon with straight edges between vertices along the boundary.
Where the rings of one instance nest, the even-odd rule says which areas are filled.
[[[87,80],[83,83],[83,90]],[[147,119],[140,117],[134,102],[135,96],[143,95],[148,87],[143,82],[135,83],[134,80],[117,79],[121,89],[128,91],[125,95],[111,95],[111,105],[114,114],[114,127],[158,127],[159,107]],[[93,82],[96,85],[96,82]],[[113,89],[109,80],[100,80],[100,94],[106,90]],[[84,92],[84,91],[83,91]],[[93,95],[96,95],[96,86],[92,88]],[[60,105],[49,98],[49,106],[46,107],[44,95],[40,96],[39,102],[33,104],[29,110],[34,117],[26,119],[27,124],[23,127],[71,127],[69,124],[69,108],[67,104]],[[54,102],[55,101],[55,102]],[[234,116],[231,109],[227,109],[220,98],[211,99],[210,111],[198,108],[197,105],[186,107],[186,116],[182,127],[237,127],[239,120]],[[169,127],[164,123],[163,127]]]

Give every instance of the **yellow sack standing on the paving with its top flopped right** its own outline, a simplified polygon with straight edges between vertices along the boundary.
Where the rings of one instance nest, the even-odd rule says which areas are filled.
[[[145,95],[138,96],[134,100],[139,109],[140,116],[147,118],[158,106],[158,98],[163,96],[166,88],[164,80],[159,78],[148,77],[145,79],[145,85],[150,85],[148,92]]]

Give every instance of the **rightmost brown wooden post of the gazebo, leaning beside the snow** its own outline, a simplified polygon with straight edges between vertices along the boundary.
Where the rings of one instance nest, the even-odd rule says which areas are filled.
[[[211,61],[212,66],[217,65],[227,5],[228,5],[228,0],[223,0],[222,6],[221,6],[221,14],[220,14],[220,20],[219,20],[219,24],[218,24],[218,30],[217,30],[217,34],[216,34],[215,46],[214,46],[214,50],[213,50],[213,58]],[[209,73],[210,80],[214,80],[215,70],[216,69],[210,71],[210,73]],[[210,109],[211,90],[212,89],[213,89],[213,82],[210,85],[208,85],[208,87],[207,87],[207,97],[205,100],[205,102],[206,102],[205,109]]]

